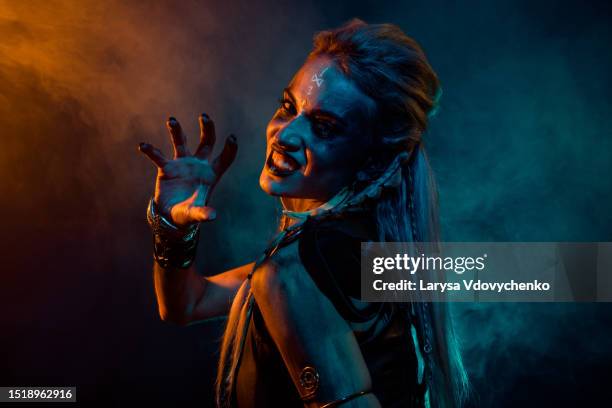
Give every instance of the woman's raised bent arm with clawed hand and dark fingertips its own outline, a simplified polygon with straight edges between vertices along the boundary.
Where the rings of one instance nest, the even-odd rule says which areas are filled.
[[[183,250],[186,245],[197,244],[197,234],[193,237],[188,234],[198,223],[215,219],[216,212],[207,205],[208,200],[237,151],[235,137],[229,136],[221,154],[211,160],[215,126],[206,114],[200,116],[199,122],[200,144],[194,154],[187,147],[181,125],[172,117],[166,122],[174,147],[172,160],[150,144],[139,145],[140,151],[157,167],[151,206],[157,217],[153,219],[161,219],[166,230],[172,233],[171,239],[156,244],[155,248],[153,273],[159,313],[163,320],[181,325],[227,314],[231,300],[252,268],[252,264],[248,264],[203,278],[190,262],[195,248]],[[164,246],[174,246],[167,262],[161,261],[163,257],[159,256],[159,252],[167,249]]]

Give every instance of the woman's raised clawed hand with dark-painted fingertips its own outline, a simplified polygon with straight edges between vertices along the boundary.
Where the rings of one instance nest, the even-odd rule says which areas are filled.
[[[215,219],[216,211],[207,205],[208,200],[238,150],[236,138],[230,135],[221,154],[211,160],[216,139],[215,124],[205,113],[199,122],[200,144],[195,154],[189,151],[181,125],[173,117],[166,122],[174,147],[172,160],[166,159],[159,149],[148,143],[138,146],[157,166],[155,204],[162,215],[178,226]]]

